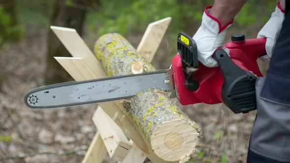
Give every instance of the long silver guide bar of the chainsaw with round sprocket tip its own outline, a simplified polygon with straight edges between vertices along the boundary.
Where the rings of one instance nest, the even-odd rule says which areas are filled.
[[[169,90],[166,70],[89,81],[69,81],[30,90],[24,96],[31,109],[59,108],[128,99],[149,88]]]

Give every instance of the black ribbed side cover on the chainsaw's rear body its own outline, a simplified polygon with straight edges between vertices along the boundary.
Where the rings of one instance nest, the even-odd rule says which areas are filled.
[[[256,109],[255,83],[257,77],[238,67],[222,49],[214,53],[224,78],[222,99],[234,113],[246,113]]]

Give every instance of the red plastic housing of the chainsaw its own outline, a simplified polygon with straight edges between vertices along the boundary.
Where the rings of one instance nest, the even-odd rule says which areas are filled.
[[[230,50],[230,57],[237,66],[262,77],[257,59],[262,54],[266,54],[265,43],[265,38],[255,38],[239,42],[232,41],[227,43],[225,47]],[[174,56],[172,68],[177,99],[182,105],[223,102],[221,90],[224,78],[219,67],[208,68],[199,62],[199,69],[193,75],[193,78],[199,82],[199,88],[196,91],[188,90],[184,84],[185,77],[179,54]]]

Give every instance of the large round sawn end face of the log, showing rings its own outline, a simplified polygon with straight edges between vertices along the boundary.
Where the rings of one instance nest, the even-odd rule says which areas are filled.
[[[194,152],[199,133],[190,123],[174,119],[158,125],[150,144],[155,154],[165,161],[180,161]]]

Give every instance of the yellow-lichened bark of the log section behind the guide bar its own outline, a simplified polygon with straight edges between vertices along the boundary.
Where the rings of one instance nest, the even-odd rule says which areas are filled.
[[[145,72],[156,70],[123,36],[117,33],[101,36],[94,50],[108,76],[132,74],[131,66],[136,61],[144,63]]]

